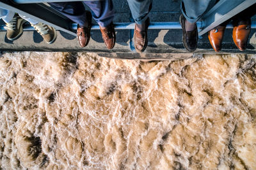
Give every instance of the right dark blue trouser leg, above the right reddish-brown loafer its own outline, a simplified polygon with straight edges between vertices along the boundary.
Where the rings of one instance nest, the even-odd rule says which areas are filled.
[[[93,19],[100,25],[106,27],[115,16],[112,0],[106,1],[83,1],[91,10]]]

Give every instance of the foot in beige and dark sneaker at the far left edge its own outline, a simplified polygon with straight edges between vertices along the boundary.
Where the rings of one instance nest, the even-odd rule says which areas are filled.
[[[8,38],[9,40],[14,40],[18,38],[23,32],[22,25],[25,22],[26,20],[20,18],[20,16],[16,13],[12,20],[6,23],[6,38]]]

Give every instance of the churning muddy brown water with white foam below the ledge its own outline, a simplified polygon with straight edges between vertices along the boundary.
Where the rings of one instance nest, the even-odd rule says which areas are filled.
[[[256,169],[256,56],[3,53],[3,169]]]

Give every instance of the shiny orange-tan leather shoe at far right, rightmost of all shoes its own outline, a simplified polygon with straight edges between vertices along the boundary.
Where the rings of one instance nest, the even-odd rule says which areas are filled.
[[[251,32],[251,20],[244,21],[245,24],[235,21],[233,23],[233,41],[240,51],[246,49],[247,41]]]

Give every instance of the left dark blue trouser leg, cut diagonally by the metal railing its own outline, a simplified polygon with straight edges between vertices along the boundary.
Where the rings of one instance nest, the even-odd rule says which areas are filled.
[[[49,3],[52,8],[81,26],[86,26],[86,14],[82,2]]]

